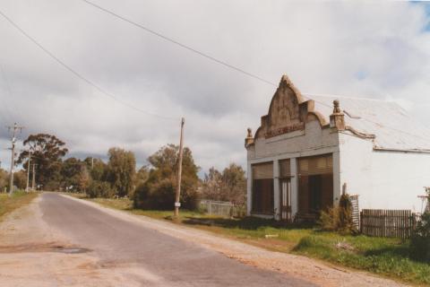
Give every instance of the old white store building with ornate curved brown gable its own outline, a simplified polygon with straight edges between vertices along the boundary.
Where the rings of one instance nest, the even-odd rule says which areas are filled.
[[[396,103],[305,96],[287,76],[255,135],[248,129],[247,213],[292,221],[336,204],[420,211],[430,186],[430,130]]]

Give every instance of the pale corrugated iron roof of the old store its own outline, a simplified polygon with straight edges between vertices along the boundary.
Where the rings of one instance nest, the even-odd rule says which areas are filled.
[[[374,148],[430,152],[430,128],[411,117],[396,102],[366,98],[303,94],[329,121],[333,100],[340,101],[345,122],[357,131],[376,135]]]

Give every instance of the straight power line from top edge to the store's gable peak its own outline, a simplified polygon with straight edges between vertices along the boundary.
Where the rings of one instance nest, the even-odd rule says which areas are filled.
[[[161,34],[161,33],[157,32],[157,31],[155,31],[155,30],[151,30],[150,28],[143,26],[142,24],[139,24],[139,23],[137,23],[137,22],[133,22],[132,20],[127,19],[127,18],[125,18],[124,16],[121,16],[121,15],[119,15],[119,14],[117,14],[117,13],[115,13],[115,12],[112,12],[112,11],[110,11],[110,10],[107,10],[106,8],[101,7],[101,6],[99,6],[98,4],[94,4],[94,3],[92,3],[92,2],[90,2],[90,1],[88,1],[88,0],[82,0],[82,2],[85,2],[86,4],[90,4],[91,6],[93,6],[93,7],[97,8],[97,9],[99,9],[99,10],[101,10],[101,11],[105,12],[105,13],[109,13],[109,14],[111,14],[112,16],[114,16],[114,17],[116,17],[116,18],[118,18],[118,19],[120,19],[120,20],[122,20],[122,21],[124,21],[124,22],[128,22],[128,23],[132,24],[132,25],[133,25],[133,26],[135,26],[135,27],[138,27],[138,28],[140,28],[140,29],[142,29],[142,30],[146,30],[146,31],[147,31],[147,32],[149,32],[150,34],[155,35],[155,36],[159,37],[160,39],[167,40],[168,42],[173,43],[173,44],[175,44],[176,46],[179,46],[179,47],[181,47],[181,48],[185,48],[185,49],[187,49],[187,50],[189,50],[189,51],[193,52],[194,54],[197,54],[197,55],[199,55],[199,56],[201,56],[201,57],[205,57],[205,58],[207,58],[207,59],[211,60],[212,62],[218,63],[219,65],[224,65],[224,66],[228,67],[229,69],[232,69],[232,70],[235,70],[236,72],[239,72],[239,73],[241,73],[241,74],[245,74],[245,75],[247,75],[247,76],[250,76],[250,77],[252,77],[252,78],[254,78],[254,79],[256,79],[256,80],[261,81],[262,83],[267,83],[267,84],[270,84],[270,85],[272,85],[272,86],[276,86],[276,84],[275,84],[275,83],[271,83],[270,81],[265,80],[265,79],[263,79],[262,77],[260,77],[260,76],[258,76],[258,75],[255,75],[255,74],[251,74],[251,73],[249,73],[249,72],[246,72],[245,70],[243,70],[243,69],[241,69],[241,68],[237,67],[236,65],[228,64],[227,62],[225,62],[225,61],[223,61],[223,60],[219,60],[219,59],[218,59],[218,58],[216,58],[216,57],[211,57],[210,55],[208,55],[208,54],[206,54],[206,53],[204,53],[204,52],[202,52],[202,51],[199,51],[199,50],[197,50],[196,48],[192,48],[192,47],[190,47],[190,46],[188,46],[188,45],[185,45],[185,44],[183,44],[183,43],[181,43],[181,42],[178,42],[176,39],[171,39],[171,38],[169,38],[168,36],[165,36],[165,35],[163,35],[163,34]]]

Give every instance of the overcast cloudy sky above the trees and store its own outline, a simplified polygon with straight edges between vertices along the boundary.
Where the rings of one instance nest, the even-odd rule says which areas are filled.
[[[304,93],[398,101],[430,126],[430,4],[407,2],[101,1],[109,10],[185,45]],[[68,156],[132,150],[140,165],[161,145],[185,144],[202,170],[245,165],[276,87],[122,22],[81,0],[0,0],[0,11],[56,57],[120,100],[58,65],[0,16],[0,160],[26,126],[57,135]]]

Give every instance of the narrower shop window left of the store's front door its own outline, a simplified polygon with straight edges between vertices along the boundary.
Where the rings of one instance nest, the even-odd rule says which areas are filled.
[[[253,165],[253,213],[273,214],[273,163]]]

